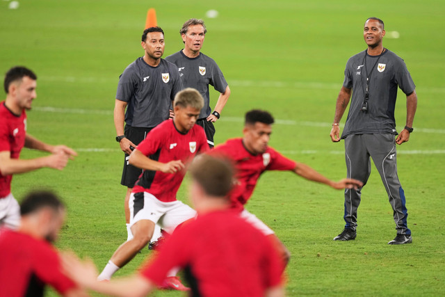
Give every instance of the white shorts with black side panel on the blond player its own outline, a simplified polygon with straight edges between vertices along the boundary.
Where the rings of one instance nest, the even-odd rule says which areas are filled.
[[[181,201],[162,202],[150,193],[131,193],[129,200],[130,227],[138,220],[151,220],[172,234],[177,225],[195,218],[196,211]]]

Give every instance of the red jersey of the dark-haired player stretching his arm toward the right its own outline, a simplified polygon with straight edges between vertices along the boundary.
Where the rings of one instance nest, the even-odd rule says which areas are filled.
[[[296,162],[268,147],[263,154],[251,154],[243,145],[242,138],[229,139],[217,145],[211,154],[221,154],[234,162],[237,184],[230,192],[232,207],[242,211],[252,196],[260,175],[266,170],[293,170]]]

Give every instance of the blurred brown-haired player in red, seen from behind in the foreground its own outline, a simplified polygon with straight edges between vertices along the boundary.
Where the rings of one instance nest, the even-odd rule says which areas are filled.
[[[69,254],[63,257],[65,271],[81,286],[113,296],[145,296],[174,266],[186,268],[191,296],[283,296],[280,257],[259,230],[230,209],[230,163],[204,154],[190,171],[197,219],[175,231],[139,273],[97,282],[94,265]]]

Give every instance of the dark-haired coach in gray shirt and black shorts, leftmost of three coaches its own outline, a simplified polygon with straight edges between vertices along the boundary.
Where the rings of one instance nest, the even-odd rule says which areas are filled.
[[[127,186],[124,210],[128,239],[132,237],[129,197],[142,173],[142,169],[128,163],[129,155],[150,130],[172,116],[172,101],[182,89],[177,67],[161,58],[165,47],[163,30],[159,27],[145,29],[140,45],[145,54],[120,75],[114,108],[116,141],[125,153],[120,183]]]

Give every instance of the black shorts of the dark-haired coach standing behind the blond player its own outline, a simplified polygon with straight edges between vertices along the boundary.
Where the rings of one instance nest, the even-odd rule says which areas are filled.
[[[125,125],[124,135],[132,143],[138,145],[141,141],[145,139],[148,132],[152,129],[153,128],[140,128],[140,127],[131,127],[130,125]],[[122,186],[133,188],[134,184],[138,181],[138,178],[142,173],[142,169],[130,165],[128,163],[128,158],[129,154],[125,154],[124,169],[122,170],[122,179],[120,180],[120,184],[122,184]]]

